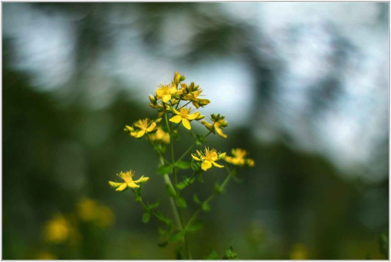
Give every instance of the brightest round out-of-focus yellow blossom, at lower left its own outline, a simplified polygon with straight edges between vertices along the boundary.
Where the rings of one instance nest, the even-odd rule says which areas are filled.
[[[57,215],[47,222],[45,226],[45,239],[48,242],[61,243],[68,239],[70,224],[62,215]]]

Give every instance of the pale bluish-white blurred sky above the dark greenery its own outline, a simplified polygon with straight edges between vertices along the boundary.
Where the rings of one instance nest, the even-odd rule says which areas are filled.
[[[63,102],[82,93],[94,110],[111,105],[118,89],[147,108],[145,98],[178,70],[211,100],[203,114],[225,114],[230,125],[250,127],[260,141],[289,137],[294,148],[325,155],[345,174],[372,182],[387,178],[388,165],[377,162],[389,143],[387,2],[196,3],[193,10],[214,17],[215,24],[222,19],[251,34],[244,34],[246,41],[242,32],[234,35],[233,44],[226,43],[228,55],[190,60],[182,57],[191,53],[202,17],[195,23],[189,12],[167,10],[151,52],[141,36],[153,24],[140,22],[140,5],[122,4],[64,12],[3,2],[3,39],[11,39],[17,54],[13,66],[29,73],[39,91]],[[110,43],[85,65],[77,39],[87,17],[99,21],[97,36]],[[241,55],[246,48],[255,58]],[[272,72],[268,100],[259,84],[267,77],[254,71],[251,59]],[[81,73],[75,70],[83,70],[77,84]]]

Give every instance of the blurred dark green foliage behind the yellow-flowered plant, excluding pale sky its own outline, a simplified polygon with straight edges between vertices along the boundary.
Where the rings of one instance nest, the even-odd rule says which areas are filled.
[[[233,23],[213,3],[205,3],[203,8],[195,3],[32,5],[49,13],[80,13],[83,17],[75,20],[77,62],[67,83],[68,95],[37,91],[31,75],[12,65],[18,56],[13,39],[3,38],[2,259],[175,259],[174,250],[158,246],[158,221],[151,218],[149,224],[143,224],[143,210],[133,196],[126,192],[118,197],[107,184],[113,174],[131,165],[140,170],[138,174],[153,177],[143,188],[145,201],[153,203],[155,192],[164,190],[155,172],[157,165],[144,160],[156,157],[151,156],[147,141],[133,141],[122,132],[124,125],[136,117],[148,117],[152,110],[144,111],[147,107],[138,106],[136,96],[123,91],[117,82],[110,87],[113,103],[97,110],[86,106],[83,81],[88,70],[97,55],[111,48],[113,27],[129,26],[113,25],[102,18],[117,10],[114,7],[120,7],[119,16],[135,9],[140,19],[133,25],[140,29],[145,48],[156,57],[190,63],[210,56],[246,58],[259,96],[254,115],[264,112],[260,121],[274,109],[270,105],[278,90],[273,86],[282,70],[279,59],[265,51],[270,42],[250,26]],[[161,21],[178,10],[189,17],[197,33],[185,51],[164,52]],[[260,39],[260,46],[250,41],[252,37]],[[347,43],[338,46],[338,56],[352,48]],[[343,67],[343,59],[335,61],[336,71],[342,73]],[[325,80],[323,87],[311,94],[314,100],[308,112],[312,119],[341,92],[341,83],[334,78]],[[142,88],[152,93],[155,87]],[[222,151],[240,144],[250,151],[256,167],[240,177],[242,182],[229,184],[228,193],[222,193],[224,198],[216,198],[211,212],[202,214],[208,223],[200,234],[189,236],[194,257],[216,254],[212,248],[218,257],[237,254],[241,259],[361,260],[368,254],[370,259],[388,259],[388,231],[377,239],[388,228],[388,180],[368,184],[345,179],[324,157],[292,150],[285,141],[255,143],[248,127],[232,129],[229,135],[231,143],[208,140]],[[386,143],[380,144],[384,147]],[[157,163],[157,159],[151,162]],[[214,185],[221,175],[203,179]],[[199,186],[198,181],[194,186]],[[200,194],[202,199],[206,196]],[[168,209],[169,203],[162,199],[160,206]],[[197,207],[189,203],[188,208],[194,211]],[[106,210],[103,220],[92,215],[100,214],[96,210]],[[93,221],[91,217],[95,217]],[[59,233],[47,235],[45,242],[44,232],[50,230]],[[72,232],[74,242],[62,242],[60,236],[66,238]],[[221,249],[227,242],[235,253]]]

